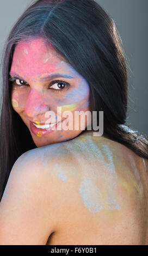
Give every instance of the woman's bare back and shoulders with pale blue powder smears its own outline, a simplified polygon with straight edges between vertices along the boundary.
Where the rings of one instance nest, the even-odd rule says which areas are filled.
[[[91,132],[24,153],[0,205],[0,244],[147,244],[145,164]]]

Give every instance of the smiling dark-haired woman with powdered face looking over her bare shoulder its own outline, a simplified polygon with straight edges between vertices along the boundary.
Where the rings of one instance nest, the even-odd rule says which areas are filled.
[[[86,118],[75,129],[77,111],[97,125],[103,111],[103,136]],[[124,52],[100,5],[30,5],[3,58],[1,245],[148,244],[148,144],[126,112]]]

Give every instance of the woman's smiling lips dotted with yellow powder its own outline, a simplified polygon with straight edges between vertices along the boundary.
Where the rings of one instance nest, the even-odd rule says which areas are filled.
[[[49,127],[47,129],[39,129],[37,128],[31,121],[30,121],[30,129],[34,133],[34,135],[38,137],[42,137],[44,135],[47,135],[55,130],[57,130],[57,126],[61,123],[62,121],[56,123],[54,126]]]

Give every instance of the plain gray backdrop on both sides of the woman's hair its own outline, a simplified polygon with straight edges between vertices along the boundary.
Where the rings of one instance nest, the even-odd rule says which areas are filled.
[[[5,39],[32,0],[0,0],[0,57]],[[147,0],[96,0],[114,19],[128,62],[128,124],[148,135]]]

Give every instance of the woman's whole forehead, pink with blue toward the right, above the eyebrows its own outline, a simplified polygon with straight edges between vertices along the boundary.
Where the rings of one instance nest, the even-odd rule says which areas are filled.
[[[76,75],[76,70],[45,39],[35,38],[16,45],[10,72],[28,76],[55,71]]]

